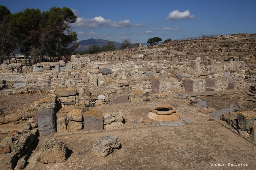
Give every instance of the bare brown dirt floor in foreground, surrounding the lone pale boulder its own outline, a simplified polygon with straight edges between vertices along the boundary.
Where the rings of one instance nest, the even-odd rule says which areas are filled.
[[[92,155],[92,144],[106,135],[117,135],[122,148],[105,158]],[[234,169],[228,163],[248,164],[235,169],[256,167],[256,147],[214,121],[180,127],[78,132],[58,138],[72,150],[68,160],[37,163],[33,169]]]

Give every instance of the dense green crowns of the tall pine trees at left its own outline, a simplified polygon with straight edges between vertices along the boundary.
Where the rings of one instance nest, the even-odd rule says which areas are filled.
[[[5,24],[7,39],[11,42],[8,48],[12,50],[20,47],[25,58],[31,55],[32,60],[35,61],[36,57],[42,58],[44,55],[60,57],[72,54],[79,46],[76,32],[71,31],[70,25],[76,22],[76,16],[67,7],[52,7],[43,12],[39,9],[26,8],[15,14],[10,14],[8,11],[5,6],[0,6],[1,26],[2,20],[8,23]],[[8,20],[3,14],[9,15],[10,19]]]

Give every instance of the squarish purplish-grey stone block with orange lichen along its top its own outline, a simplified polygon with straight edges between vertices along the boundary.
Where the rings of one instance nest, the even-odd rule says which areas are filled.
[[[84,113],[84,130],[103,130],[104,117],[100,110],[91,110]]]

